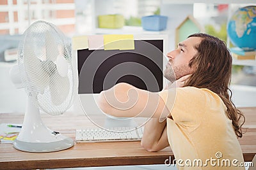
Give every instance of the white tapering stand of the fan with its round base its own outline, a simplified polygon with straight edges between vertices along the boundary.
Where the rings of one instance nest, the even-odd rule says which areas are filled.
[[[13,146],[24,152],[56,152],[74,146],[74,141],[47,128],[42,122],[39,109],[28,97],[22,129]]]

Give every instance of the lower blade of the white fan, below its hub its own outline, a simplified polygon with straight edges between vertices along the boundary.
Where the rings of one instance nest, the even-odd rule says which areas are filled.
[[[68,77],[61,77],[56,71],[53,76],[50,76],[49,89],[51,101],[54,105],[59,106],[68,96],[70,83]]]

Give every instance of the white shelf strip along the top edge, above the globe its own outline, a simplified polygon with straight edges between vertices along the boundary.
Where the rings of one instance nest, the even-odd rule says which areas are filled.
[[[180,0],[180,1],[175,1],[175,0],[163,0],[162,4],[193,4],[193,3],[207,3],[207,4],[255,4],[255,0]]]

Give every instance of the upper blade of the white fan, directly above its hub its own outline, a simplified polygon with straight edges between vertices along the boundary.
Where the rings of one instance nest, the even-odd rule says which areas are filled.
[[[50,32],[45,34],[45,50],[46,50],[46,59],[55,61],[59,55],[58,45],[55,42],[55,39],[52,37]]]

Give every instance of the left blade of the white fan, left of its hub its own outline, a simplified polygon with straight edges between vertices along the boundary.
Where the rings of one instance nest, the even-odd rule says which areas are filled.
[[[49,83],[49,76],[42,68],[42,61],[38,59],[29,43],[24,43],[24,67],[28,73],[29,80],[33,83],[39,92],[44,92]]]

